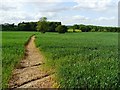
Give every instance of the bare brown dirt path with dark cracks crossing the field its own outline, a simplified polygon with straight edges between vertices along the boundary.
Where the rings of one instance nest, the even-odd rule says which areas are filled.
[[[35,36],[32,36],[26,45],[25,58],[13,71],[9,81],[9,88],[52,88],[54,72],[41,68],[44,57],[35,46]]]

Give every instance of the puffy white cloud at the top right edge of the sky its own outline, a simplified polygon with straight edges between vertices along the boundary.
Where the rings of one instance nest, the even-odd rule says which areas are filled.
[[[77,3],[73,9],[92,9],[96,11],[107,10],[114,6],[112,0],[74,0]]]

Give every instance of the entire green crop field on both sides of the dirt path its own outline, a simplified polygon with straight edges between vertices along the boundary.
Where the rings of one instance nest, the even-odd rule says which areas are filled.
[[[34,33],[36,46],[46,56],[47,65],[55,69],[60,87],[118,87],[118,33],[2,32],[3,87]]]

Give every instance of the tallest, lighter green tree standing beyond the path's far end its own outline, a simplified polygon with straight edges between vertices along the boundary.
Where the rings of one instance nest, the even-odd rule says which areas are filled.
[[[48,22],[46,17],[41,17],[40,20],[37,22],[37,31],[41,33],[45,33],[48,30]]]

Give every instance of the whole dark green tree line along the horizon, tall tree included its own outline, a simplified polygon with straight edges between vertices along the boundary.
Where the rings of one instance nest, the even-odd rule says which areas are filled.
[[[75,32],[76,29],[81,30],[82,32],[119,32],[119,27],[103,27],[103,26],[94,26],[94,25],[83,25],[75,24],[72,26],[62,25],[61,22],[50,22],[47,21],[46,17],[41,17],[38,22],[22,22],[18,25],[15,24],[1,24],[2,31],[40,31],[45,32],[59,32],[65,33],[68,29],[73,29]]]

